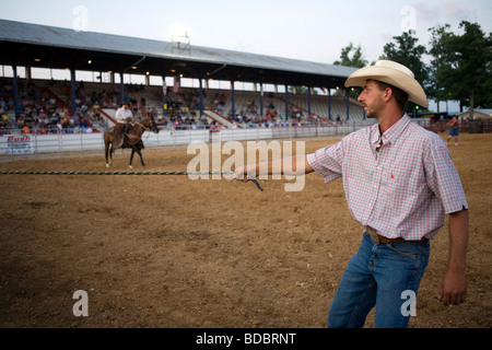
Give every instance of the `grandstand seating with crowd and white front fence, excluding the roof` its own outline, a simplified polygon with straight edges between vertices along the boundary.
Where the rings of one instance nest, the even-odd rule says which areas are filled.
[[[21,107],[19,118],[15,119],[12,79],[1,79],[0,82],[1,95],[5,98],[4,101],[0,98],[0,102],[4,102],[5,108],[2,109],[7,112],[10,120],[8,125],[2,124],[0,130],[0,136],[8,136],[0,137],[0,160],[4,155],[63,154],[74,151],[101,151],[104,148],[102,131],[113,125],[119,104],[117,85],[95,82],[78,84],[75,112],[72,114],[69,108],[71,91],[67,82],[17,79]],[[347,120],[336,122],[329,120],[327,116],[315,118],[316,114],[323,116],[324,107],[327,110],[327,96],[312,96],[309,116],[305,110],[306,95],[284,93],[267,93],[263,96],[266,112],[265,116],[261,116],[256,108],[260,96],[257,92],[250,91],[234,93],[237,112],[234,118],[232,92],[216,89],[203,90],[203,118],[198,118],[199,110],[194,109],[198,98],[197,91],[192,88],[181,88],[177,92],[169,91],[168,107],[164,114],[160,105],[161,88],[150,85],[126,88],[125,98],[137,102],[133,104],[137,117],[143,118],[149,113],[155,113],[157,116],[161,131],[157,135],[151,132],[145,135],[145,147],[149,148],[189,144],[191,141],[210,142],[209,128],[216,120],[223,121],[220,127],[220,137],[223,141],[345,135],[373,121],[364,120],[359,124],[353,118],[350,122]],[[290,101],[288,108],[292,109],[289,119],[282,118],[286,107],[285,98]],[[345,112],[345,98],[332,96],[330,100],[333,116],[337,112]],[[145,103],[138,103],[139,101]],[[218,104],[218,101],[223,104]],[[87,125],[82,126],[82,122]],[[13,135],[21,136],[12,138]]]

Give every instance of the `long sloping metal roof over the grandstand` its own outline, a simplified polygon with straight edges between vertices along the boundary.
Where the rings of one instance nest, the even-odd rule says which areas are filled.
[[[131,25],[131,24],[130,24]],[[294,45],[293,45],[294,46]],[[343,86],[356,69],[172,42],[0,20],[0,63],[257,83]],[[91,63],[89,63],[91,61]],[[137,67],[137,69],[132,69]]]

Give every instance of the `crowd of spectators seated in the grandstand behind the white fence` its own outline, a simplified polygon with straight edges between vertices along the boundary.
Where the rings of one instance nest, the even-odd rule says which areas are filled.
[[[71,112],[71,84],[67,81],[54,81],[48,83],[49,88],[57,90],[61,96],[50,95],[50,90],[42,89],[34,82],[19,80],[19,108],[20,115],[15,120],[13,117],[14,97],[12,79],[0,80],[0,115],[2,133],[8,132],[93,132],[96,129],[107,128],[105,118],[102,117],[99,108],[118,108],[120,91],[116,85],[92,91],[85,88],[83,81],[75,86],[75,113]],[[125,91],[131,95],[141,93],[144,96],[145,86],[138,84],[126,84]],[[209,129],[211,121],[207,116],[200,116],[200,96],[196,89],[186,89],[179,92],[166,93],[166,114],[159,120],[164,129]],[[66,102],[60,101],[65,98]],[[131,103],[133,115],[137,118],[145,118],[150,114],[157,115],[157,110],[147,106],[145,97],[132,98],[129,94],[124,96]],[[162,98],[162,89],[155,92],[155,98]],[[246,105],[241,105],[234,115],[227,106],[224,93],[215,92],[207,98],[203,93],[204,108],[212,109],[223,116],[232,128],[269,128],[288,126],[317,126],[343,124],[338,116],[336,118],[321,118],[317,115],[307,115],[302,108],[289,107],[288,114],[282,115],[276,108],[276,100],[272,93],[267,95],[263,115],[260,114],[256,101],[249,98]],[[7,131],[9,130],[9,131]]]

